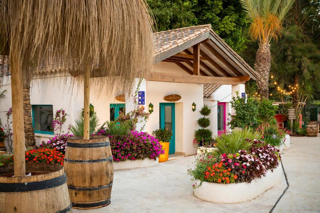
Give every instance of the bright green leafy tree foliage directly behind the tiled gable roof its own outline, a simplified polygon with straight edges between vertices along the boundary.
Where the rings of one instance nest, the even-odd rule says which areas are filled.
[[[238,0],[147,0],[158,31],[211,24],[236,51],[248,41],[242,34],[248,23]]]

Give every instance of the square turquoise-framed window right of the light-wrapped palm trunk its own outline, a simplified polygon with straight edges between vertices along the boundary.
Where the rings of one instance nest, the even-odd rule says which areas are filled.
[[[32,126],[35,133],[54,134],[52,105],[32,105]]]

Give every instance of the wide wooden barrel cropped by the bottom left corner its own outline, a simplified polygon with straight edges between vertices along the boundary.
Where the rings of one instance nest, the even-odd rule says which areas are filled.
[[[26,163],[26,174],[12,177],[13,164],[0,166],[0,212],[71,212],[63,166]]]

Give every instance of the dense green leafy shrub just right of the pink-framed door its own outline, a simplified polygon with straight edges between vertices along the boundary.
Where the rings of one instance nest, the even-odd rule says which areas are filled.
[[[247,101],[244,98],[241,98],[239,93],[236,92],[236,97],[232,97],[232,101],[230,102],[231,107],[236,110],[235,115],[230,116],[230,121],[228,125],[230,125],[231,129],[236,127],[245,128],[245,127],[256,127],[258,125],[258,106],[259,103],[253,98],[248,97]]]

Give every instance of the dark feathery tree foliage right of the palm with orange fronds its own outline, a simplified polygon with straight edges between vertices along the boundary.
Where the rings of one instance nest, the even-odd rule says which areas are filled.
[[[320,1],[296,0],[286,20],[283,36],[272,51],[272,70],[283,86],[312,85],[315,98],[320,99]],[[292,94],[295,108],[299,94],[298,90]]]

